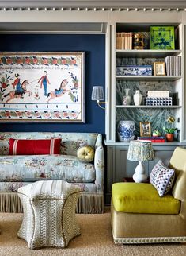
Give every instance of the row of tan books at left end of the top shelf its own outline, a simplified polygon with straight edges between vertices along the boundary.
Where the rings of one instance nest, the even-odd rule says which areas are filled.
[[[116,33],[116,49],[118,50],[132,49],[132,32]]]

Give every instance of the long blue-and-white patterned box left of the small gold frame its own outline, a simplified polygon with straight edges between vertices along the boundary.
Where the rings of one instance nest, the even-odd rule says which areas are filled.
[[[118,66],[116,67],[116,76],[152,76],[152,66]]]

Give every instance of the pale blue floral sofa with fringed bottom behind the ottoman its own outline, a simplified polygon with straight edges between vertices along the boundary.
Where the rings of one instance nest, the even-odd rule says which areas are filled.
[[[9,138],[61,138],[58,155],[9,155]],[[91,145],[95,149],[91,163],[79,161],[77,149]],[[1,132],[0,133],[0,211],[21,212],[17,189],[37,180],[66,180],[82,188],[78,213],[104,211],[104,148],[101,134]]]

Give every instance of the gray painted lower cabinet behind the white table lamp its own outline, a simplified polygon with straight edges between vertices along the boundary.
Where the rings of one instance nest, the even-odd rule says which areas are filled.
[[[155,159],[144,163],[146,174],[149,176],[154,165],[158,160],[162,160],[166,165],[173,154],[177,145],[153,145]],[[108,145],[107,146],[107,172],[105,184],[105,204],[110,204],[112,184],[122,182],[123,177],[131,177],[135,173],[135,167],[138,162],[127,160],[128,145]]]

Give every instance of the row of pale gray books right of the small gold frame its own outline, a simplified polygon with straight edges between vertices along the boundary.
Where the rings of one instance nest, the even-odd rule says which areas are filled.
[[[166,56],[165,68],[167,76],[181,76],[181,56]]]

